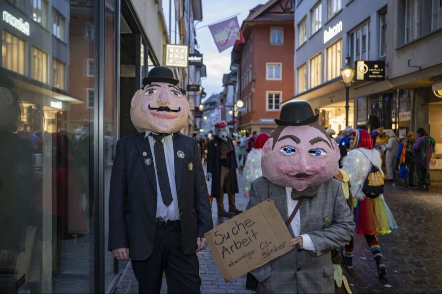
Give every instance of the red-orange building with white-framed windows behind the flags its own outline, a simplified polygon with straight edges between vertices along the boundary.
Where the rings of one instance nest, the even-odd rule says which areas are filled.
[[[293,95],[292,1],[271,0],[254,7],[241,29],[245,43],[232,52],[232,63],[239,66],[236,87],[244,101],[239,128],[270,133],[281,102]]]

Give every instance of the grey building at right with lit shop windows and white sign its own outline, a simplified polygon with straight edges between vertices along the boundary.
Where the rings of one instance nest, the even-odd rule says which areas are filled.
[[[367,130],[424,127],[441,143],[441,2],[438,0],[297,0],[295,7],[295,93],[320,123],[336,132],[345,125],[345,87],[340,69],[346,57],[385,63],[382,80],[355,80],[350,86],[349,125]],[[439,88],[438,88],[439,87]],[[440,147],[436,157],[440,156]],[[434,165],[440,165],[434,161]],[[432,177],[439,172],[432,172]],[[440,178],[437,176],[436,178]]]

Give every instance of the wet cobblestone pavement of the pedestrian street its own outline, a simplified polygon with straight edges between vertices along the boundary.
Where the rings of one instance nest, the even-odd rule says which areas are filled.
[[[243,196],[242,173],[239,173],[238,181],[240,193],[236,195],[236,202],[237,207],[243,210],[249,199]],[[386,185],[385,198],[399,226],[391,234],[379,237],[387,276],[383,279],[377,277],[370,249],[364,237],[356,235],[353,276],[345,272],[353,293],[442,292],[441,191],[440,183],[434,184],[431,191]],[[224,205],[228,207],[226,198]],[[214,225],[227,220],[218,218],[215,202],[212,213]],[[252,293],[245,289],[245,276],[231,283],[224,282],[209,248],[200,252],[199,263],[201,293]],[[138,282],[130,263],[115,293],[138,293]],[[167,293],[166,280],[163,280],[161,293]]]

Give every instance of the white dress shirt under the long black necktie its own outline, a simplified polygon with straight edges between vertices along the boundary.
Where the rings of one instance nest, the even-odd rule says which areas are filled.
[[[176,221],[180,219],[180,211],[178,208],[178,194],[176,192],[175,183],[175,154],[173,152],[173,135],[163,138],[164,155],[166,157],[167,176],[169,177],[170,191],[172,192],[172,202],[169,206],[163,203],[163,197],[161,196],[160,184],[158,182],[158,172],[155,163],[154,144],[155,139],[149,134],[151,131],[146,131],[144,138],[149,138],[150,150],[152,152],[152,163],[155,168],[155,176],[157,180],[157,218],[165,221]],[[155,134],[155,133],[154,133]]]

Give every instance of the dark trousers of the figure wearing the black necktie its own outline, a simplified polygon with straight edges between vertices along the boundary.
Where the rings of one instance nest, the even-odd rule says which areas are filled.
[[[200,293],[198,257],[196,253],[184,255],[179,227],[157,226],[152,254],[146,260],[132,261],[132,269],[140,294],[160,293],[163,272],[166,272],[167,293]]]

